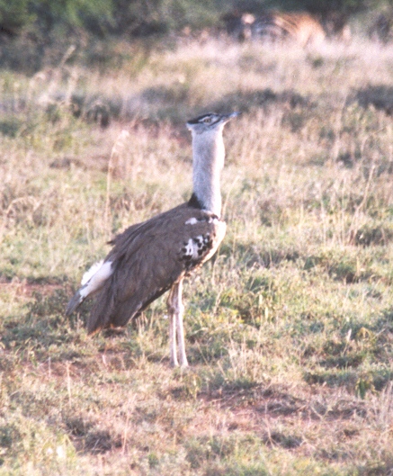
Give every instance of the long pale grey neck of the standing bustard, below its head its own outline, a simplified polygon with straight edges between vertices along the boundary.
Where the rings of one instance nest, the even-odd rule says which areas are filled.
[[[192,182],[203,210],[221,215],[219,180],[224,166],[225,147],[222,128],[198,134],[192,131]]]

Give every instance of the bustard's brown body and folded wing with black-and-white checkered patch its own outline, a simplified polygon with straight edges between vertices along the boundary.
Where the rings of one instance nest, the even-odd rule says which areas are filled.
[[[226,224],[208,211],[180,206],[114,238],[105,261],[112,276],[98,292],[89,333],[130,318],[216,252]]]

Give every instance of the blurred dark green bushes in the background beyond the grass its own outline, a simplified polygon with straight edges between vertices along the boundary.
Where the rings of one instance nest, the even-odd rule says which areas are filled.
[[[103,39],[155,42],[223,31],[241,38],[241,25],[250,24],[245,13],[254,15],[255,22],[272,10],[311,13],[329,36],[344,31],[348,37],[351,28],[382,42],[392,38],[388,0],[1,0],[0,62],[34,72],[58,59],[56,45],[87,48]],[[90,60],[103,57],[92,52]]]

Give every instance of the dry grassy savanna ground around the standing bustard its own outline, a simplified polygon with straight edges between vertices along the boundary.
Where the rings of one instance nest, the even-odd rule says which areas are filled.
[[[0,73],[0,474],[392,474],[393,48],[61,55]],[[64,310],[108,238],[189,197],[210,110],[242,112],[228,235],[173,370],[165,298],[94,337]]]

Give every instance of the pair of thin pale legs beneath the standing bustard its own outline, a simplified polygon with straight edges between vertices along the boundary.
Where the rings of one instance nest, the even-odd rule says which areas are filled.
[[[176,353],[176,335],[179,345],[179,360],[182,367],[187,367],[187,355],[185,355],[184,345],[184,329],[183,329],[183,312],[184,306],[182,301],[183,280],[172,286],[168,296],[168,314],[169,314],[169,340],[171,346],[171,365],[177,367]]]

